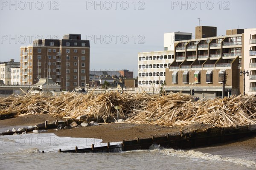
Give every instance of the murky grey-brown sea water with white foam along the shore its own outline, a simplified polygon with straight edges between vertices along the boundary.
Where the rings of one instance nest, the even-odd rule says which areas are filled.
[[[113,142],[111,144],[120,144]],[[53,133],[0,136],[1,170],[255,170],[254,153],[236,157],[236,150],[225,156],[225,147],[212,153],[196,150],[174,150],[152,145],[148,150],[116,153],[58,153],[58,149],[106,146],[101,139],[58,137]],[[210,148],[210,147],[208,147]],[[42,153],[44,151],[44,153]],[[218,152],[219,151],[219,152]]]

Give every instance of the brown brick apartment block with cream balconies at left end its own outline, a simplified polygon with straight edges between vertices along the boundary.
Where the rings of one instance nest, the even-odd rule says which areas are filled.
[[[73,91],[89,83],[90,42],[81,34],[66,34],[61,40],[34,40],[20,47],[21,85],[33,85],[40,78],[52,78],[61,90]]]

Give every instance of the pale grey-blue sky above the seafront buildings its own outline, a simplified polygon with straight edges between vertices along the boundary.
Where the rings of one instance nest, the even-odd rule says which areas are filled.
[[[139,52],[163,51],[163,34],[216,26],[256,28],[256,0],[0,0],[0,61],[20,61],[35,39],[81,34],[90,70],[137,72]],[[136,74],[135,74],[136,75]]]

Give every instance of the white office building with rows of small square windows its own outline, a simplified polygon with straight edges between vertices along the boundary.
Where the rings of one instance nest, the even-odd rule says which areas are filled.
[[[172,32],[164,34],[164,51],[138,54],[138,87],[160,87],[166,79],[166,68],[174,61],[174,42],[190,40],[192,33]]]

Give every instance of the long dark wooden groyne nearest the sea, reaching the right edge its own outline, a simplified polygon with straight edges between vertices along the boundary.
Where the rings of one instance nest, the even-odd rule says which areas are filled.
[[[190,149],[195,147],[209,146],[212,144],[225,143],[233,140],[241,139],[246,136],[256,136],[256,125],[211,128],[206,131],[195,131],[192,133],[170,136],[169,134],[161,137],[148,139],[137,139],[131,141],[123,141],[122,144],[92,147],[74,150],[61,150],[63,153],[97,153],[97,152],[118,152],[128,150],[149,149],[152,144],[161,147],[171,147],[174,149]]]

